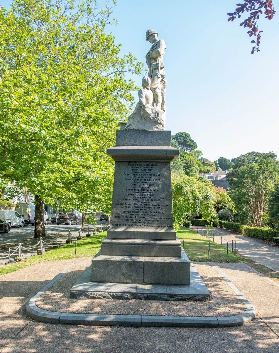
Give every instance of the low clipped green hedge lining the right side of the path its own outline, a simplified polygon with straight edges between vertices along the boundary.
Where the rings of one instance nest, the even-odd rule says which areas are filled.
[[[272,228],[259,228],[243,226],[240,223],[219,221],[219,226],[237,233],[247,235],[250,238],[272,241],[274,237],[279,237],[279,231]]]

